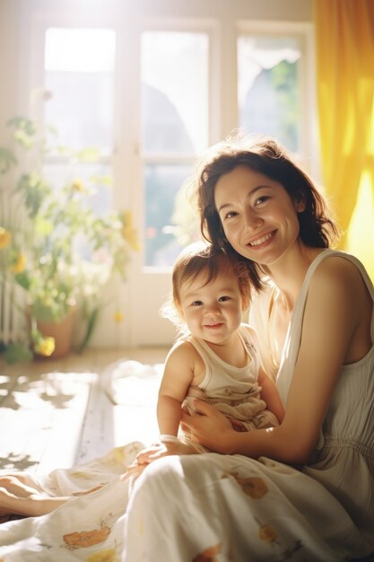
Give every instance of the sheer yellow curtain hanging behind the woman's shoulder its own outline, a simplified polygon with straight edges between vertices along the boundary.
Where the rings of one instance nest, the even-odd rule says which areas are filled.
[[[374,278],[374,0],[314,0],[323,183]]]

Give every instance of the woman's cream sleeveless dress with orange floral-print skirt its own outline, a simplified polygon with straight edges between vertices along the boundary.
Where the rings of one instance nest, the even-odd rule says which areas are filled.
[[[317,256],[283,348],[277,385],[285,405],[309,281],[329,256],[351,260],[374,301],[370,278],[357,259],[333,250]],[[256,312],[265,327],[271,298],[270,288],[254,305],[254,328],[265,355],[270,342]],[[371,338],[374,342],[374,313]],[[344,365],[313,461],[303,470],[265,458],[207,453],[162,459],[135,488],[123,562],[332,562],[368,556],[374,552],[374,346],[361,361]]]

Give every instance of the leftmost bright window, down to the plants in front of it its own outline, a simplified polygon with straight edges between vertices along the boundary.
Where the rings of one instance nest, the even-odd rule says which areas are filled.
[[[114,70],[116,33],[109,29],[49,28],[44,50],[44,122],[56,128],[57,147],[46,155],[44,170],[52,185],[66,180],[94,180],[91,206],[100,215],[111,206]],[[84,162],[66,178],[67,155],[88,147]],[[59,147],[59,148],[58,148]],[[92,158],[92,156],[96,156]],[[91,162],[93,160],[93,162]]]

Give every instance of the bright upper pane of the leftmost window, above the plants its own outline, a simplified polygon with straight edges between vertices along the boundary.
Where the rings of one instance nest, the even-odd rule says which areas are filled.
[[[116,33],[104,29],[51,28],[46,32],[45,122],[61,144],[95,145],[112,152]]]

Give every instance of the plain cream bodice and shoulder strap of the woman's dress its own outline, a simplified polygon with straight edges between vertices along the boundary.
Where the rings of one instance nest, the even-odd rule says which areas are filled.
[[[361,272],[371,298],[373,285],[361,262],[343,251],[325,250],[311,264],[301,287],[298,302],[292,312],[291,323],[283,347],[281,367],[276,383],[284,407],[292,373],[300,347],[302,316],[308,295],[309,282],[317,266],[329,256],[349,259]],[[264,310],[269,310],[272,291],[261,296]],[[266,303],[265,303],[266,302]],[[261,344],[265,341],[265,326],[257,323],[260,307],[254,307],[251,321],[257,324]],[[268,338],[268,334],[266,334]],[[374,342],[374,313],[371,319],[371,339]],[[269,347],[261,350],[269,361]],[[273,362],[274,363],[274,362]],[[374,346],[367,356],[354,364],[345,364],[333,399],[327,410],[313,461],[303,469],[305,474],[321,482],[346,508],[358,529],[370,544],[374,544]],[[373,547],[374,550],[374,547]]]

